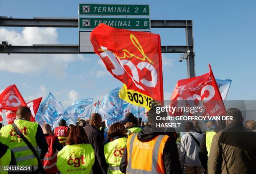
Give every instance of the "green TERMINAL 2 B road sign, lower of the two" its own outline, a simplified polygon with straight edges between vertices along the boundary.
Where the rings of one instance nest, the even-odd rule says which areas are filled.
[[[79,29],[93,29],[100,23],[115,28],[149,30],[150,20],[148,18],[94,18],[79,17]]]

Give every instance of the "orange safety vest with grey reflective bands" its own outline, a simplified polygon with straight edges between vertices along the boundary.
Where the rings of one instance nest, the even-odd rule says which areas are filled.
[[[126,142],[127,174],[165,174],[163,151],[167,135],[158,135],[149,142],[141,142],[131,134]],[[145,160],[147,159],[147,160]]]

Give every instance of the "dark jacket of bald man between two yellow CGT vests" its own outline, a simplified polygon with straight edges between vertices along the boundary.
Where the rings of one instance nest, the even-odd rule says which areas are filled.
[[[104,155],[104,138],[102,137],[102,133],[100,129],[97,127],[87,124],[84,127],[84,131],[88,137],[89,143],[92,145],[92,148],[95,150],[95,162],[92,166],[93,174],[107,174],[108,172],[108,164],[105,160]]]

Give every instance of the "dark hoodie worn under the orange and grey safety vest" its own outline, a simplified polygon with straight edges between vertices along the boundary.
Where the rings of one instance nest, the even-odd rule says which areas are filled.
[[[148,142],[154,137],[164,134],[161,132],[161,129],[157,129],[153,125],[145,126],[141,132],[138,133],[138,140],[141,142]],[[163,151],[163,161],[164,161],[164,169],[165,174],[182,174],[181,165],[179,163],[179,154],[177,149],[176,142],[170,137],[167,139],[164,145]],[[120,162],[120,171],[126,173],[127,167],[127,149],[125,147],[125,151],[123,153],[122,160]]]

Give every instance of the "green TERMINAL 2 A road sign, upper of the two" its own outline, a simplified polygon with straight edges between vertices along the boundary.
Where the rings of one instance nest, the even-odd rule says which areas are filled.
[[[149,16],[149,5],[79,4],[79,15]]]

